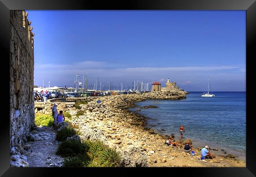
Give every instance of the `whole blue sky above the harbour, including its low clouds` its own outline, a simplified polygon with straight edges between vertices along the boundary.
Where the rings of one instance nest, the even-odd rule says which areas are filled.
[[[187,91],[245,91],[246,11],[28,11],[35,85],[167,78]],[[80,77],[80,81],[82,77]],[[116,84],[115,84],[116,86]],[[120,87],[120,85],[119,85]]]

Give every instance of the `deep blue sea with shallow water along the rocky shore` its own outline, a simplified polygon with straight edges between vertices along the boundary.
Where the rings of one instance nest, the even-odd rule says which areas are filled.
[[[146,116],[147,126],[161,135],[193,140],[193,147],[210,146],[216,155],[229,153],[246,157],[246,92],[213,92],[215,97],[201,97],[202,92],[189,92],[182,100],[146,100],[135,103],[130,111]],[[141,109],[154,105],[158,108]],[[222,149],[222,150],[221,150]],[[223,151],[224,150],[224,151]],[[226,154],[224,154],[226,152]]]

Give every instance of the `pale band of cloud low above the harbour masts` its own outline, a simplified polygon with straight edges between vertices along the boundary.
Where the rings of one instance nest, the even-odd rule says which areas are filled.
[[[42,85],[42,79],[45,83],[51,82],[51,85],[62,86],[74,84],[76,73],[81,82],[83,74],[88,71],[88,84],[94,84],[97,78],[102,84],[108,85],[108,82],[124,82],[124,85],[132,85],[132,81],[141,80],[143,83],[154,81],[164,82],[168,77],[171,81],[177,83],[181,89],[183,87],[198,88],[207,86],[207,77],[211,78],[211,83],[221,85],[224,81],[236,78],[237,81],[245,79],[245,73],[236,72],[241,69],[237,66],[187,66],[187,67],[135,67],[121,68],[114,63],[101,61],[83,61],[79,63],[54,65],[35,64],[34,77],[35,85]],[[232,72],[230,72],[232,71]],[[234,72],[235,71],[235,72]],[[198,82],[199,81],[199,82]],[[214,83],[215,82],[215,83]],[[131,86],[132,87],[132,86]],[[164,86],[163,86],[164,87]],[[218,87],[218,86],[217,86]]]

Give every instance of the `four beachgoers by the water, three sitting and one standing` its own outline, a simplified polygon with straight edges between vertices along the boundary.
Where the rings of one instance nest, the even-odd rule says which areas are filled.
[[[183,134],[185,133],[184,125],[180,126],[179,133],[180,133],[180,139],[182,139]],[[165,144],[167,146],[172,145],[172,146],[182,147],[182,144],[178,144],[178,142],[176,142],[174,140],[172,135],[169,136],[169,139],[165,142]],[[190,142],[188,140],[186,141],[186,144],[184,146],[184,152],[190,153],[192,156],[195,155],[195,151],[193,151],[192,145],[190,144]],[[201,160],[205,161],[204,159],[206,159],[206,158],[213,159],[213,155],[210,152],[210,147],[209,146],[205,146],[201,149]]]

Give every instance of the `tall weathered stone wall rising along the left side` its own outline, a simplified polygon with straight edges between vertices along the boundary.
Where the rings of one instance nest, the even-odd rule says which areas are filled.
[[[34,45],[23,10],[10,11],[10,147],[26,141],[34,126]]]

